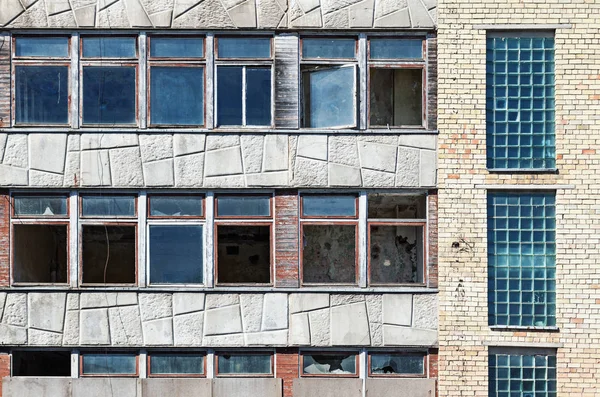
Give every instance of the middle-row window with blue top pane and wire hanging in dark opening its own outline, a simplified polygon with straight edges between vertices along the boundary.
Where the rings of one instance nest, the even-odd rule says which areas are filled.
[[[83,284],[136,284],[135,203],[133,195],[81,196]]]

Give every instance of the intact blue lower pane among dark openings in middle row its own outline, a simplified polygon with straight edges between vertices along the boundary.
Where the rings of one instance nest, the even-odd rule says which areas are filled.
[[[202,226],[150,226],[150,283],[201,284]]]

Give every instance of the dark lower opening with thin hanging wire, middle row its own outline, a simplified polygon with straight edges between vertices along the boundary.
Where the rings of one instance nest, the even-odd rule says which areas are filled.
[[[135,284],[135,235],[135,226],[84,225],[83,283]]]

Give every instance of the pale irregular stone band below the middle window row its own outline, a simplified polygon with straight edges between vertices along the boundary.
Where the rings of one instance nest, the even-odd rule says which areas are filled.
[[[0,345],[436,346],[436,294],[2,292]]]

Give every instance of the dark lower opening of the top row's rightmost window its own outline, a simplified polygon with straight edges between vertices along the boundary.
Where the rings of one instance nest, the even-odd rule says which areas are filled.
[[[423,70],[371,68],[370,125],[423,125]]]

